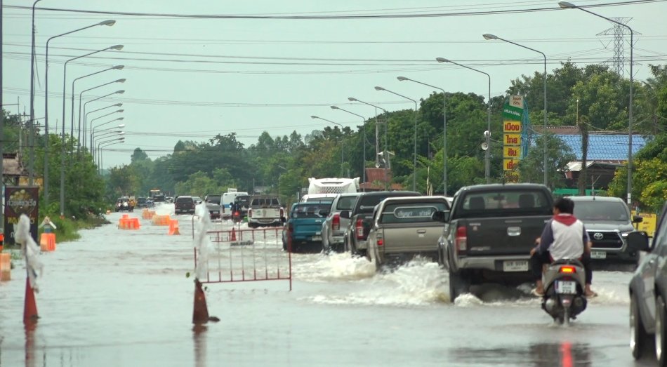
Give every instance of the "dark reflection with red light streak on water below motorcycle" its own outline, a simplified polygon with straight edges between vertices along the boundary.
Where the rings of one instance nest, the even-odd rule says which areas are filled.
[[[468,361],[471,365],[573,367],[592,366],[588,343],[536,343],[527,348],[458,348],[451,352],[456,361]],[[522,361],[518,363],[518,361]]]

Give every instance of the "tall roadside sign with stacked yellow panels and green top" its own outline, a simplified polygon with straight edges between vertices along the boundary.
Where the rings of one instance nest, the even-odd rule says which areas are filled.
[[[505,182],[519,182],[523,97],[510,95],[503,106],[503,172]]]

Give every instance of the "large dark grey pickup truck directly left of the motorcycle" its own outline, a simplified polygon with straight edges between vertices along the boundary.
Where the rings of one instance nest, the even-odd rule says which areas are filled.
[[[437,241],[438,263],[449,273],[449,298],[485,282],[517,285],[530,280],[530,250],[553,216],[544,185],[489,184],[461,187]]]

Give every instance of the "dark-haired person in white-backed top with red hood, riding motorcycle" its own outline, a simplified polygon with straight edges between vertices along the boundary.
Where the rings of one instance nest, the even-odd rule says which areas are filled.
[[[544,295],[542,283],[542,267],[555,260],[564,258],[579,259],[586,272],[586,289],[584,295],[597,295],[590,290],[593,281],[593,270],[590,269],[590,238],[586,227],[581,220],[576,219],[574,201],[568,198],[559,198],[553,204],[553,218],[551,218],[536,239],[536,246],[530,251],[531,271],[535,279],[534,295]]]

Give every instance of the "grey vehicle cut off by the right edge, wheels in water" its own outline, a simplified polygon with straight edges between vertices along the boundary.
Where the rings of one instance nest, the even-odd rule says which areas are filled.
[[[646,232],[626,237],[633,251],[647,251],[630,279],[630,350],[635,359],[654,344],[658,366],[667,366],[667,201],[653,243]]]

